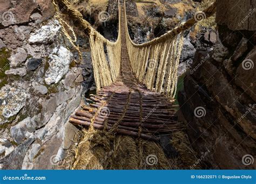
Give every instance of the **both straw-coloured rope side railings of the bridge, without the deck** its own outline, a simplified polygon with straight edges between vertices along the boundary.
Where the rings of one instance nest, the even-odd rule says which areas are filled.
[[[82,14],[77,11],[67,0],[54,0],[72,18],[76,19],[89,34],[92,53],[93,73],[97,90],[104,86],[110,86],[116,81],[120,74],[121,59],[121,3],[119,3],[119,29],[116,42],[104,38],[99,32],[83,19]],[[127,16],[124,8],[126,45],[130,57],[132,71],[139,80],[150,90],[174,97],[177,87],[177,70],[181,49],[183,47],[182,32],[197,23],[195,17],[186,23],[144,44],[134,44],[129,36],[127,27]],[[203,11],[205,17],[215,13],[215,3]],[[104,48],[107,48],[105,53]]]

